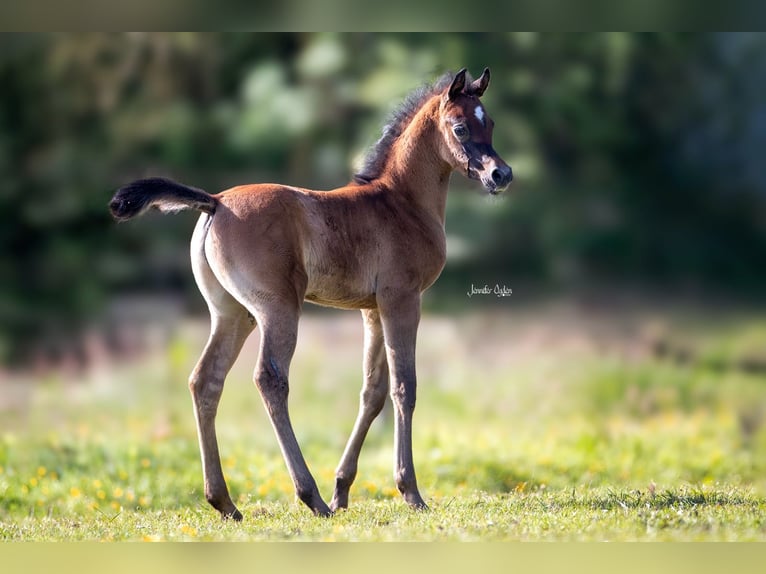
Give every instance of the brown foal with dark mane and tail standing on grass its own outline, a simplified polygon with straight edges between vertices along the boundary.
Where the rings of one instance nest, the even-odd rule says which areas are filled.
[[[493,122],[479,102],[489,69],[466,70],[412,94],[384,129],[361,173],[320,192],[278,184],[207,193],[161,179],[121,188],[116,219],[149,208],[196,209],[194,278],[208,304],[211,333],[189,379],[205,497],[224,518],[241,520],[226,487],[215,416],[226,374],[256,324],[261,345],[255,384],[276,432],[298,497],[327,516],[348,506],[362,443],[390,391],[394,478],[413,508],[426,508],[412,460],[415,339],[420,297],[446,258],[444,213],[450,173],[460,169],[499,193],[511,168],[492,148]],[[317,490],[287,409],[288,373],[303,301],[361,309],[364,386],[359,414],[336,471],[328,506]],[[390,380],[390,386],[389,386]]]

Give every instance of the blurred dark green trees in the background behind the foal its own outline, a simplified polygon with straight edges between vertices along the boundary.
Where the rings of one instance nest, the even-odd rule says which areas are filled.
[[[456,175],[434,305],[472,282],[758,297],[763,34],[0,36],[0,364],[66,352],[115,297],[191,278],[196,217],[117,227],[132,178],[331,188],[411,89],[492,69],[507,196]]]

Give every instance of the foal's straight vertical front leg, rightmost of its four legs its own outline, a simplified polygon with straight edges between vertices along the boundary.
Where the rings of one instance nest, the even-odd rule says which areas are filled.
[[[415,411],[415,340],[420,321],[420,294],[379,297],[386,343],[391,399],[394,403],[394,480],[404,500],[428,508],[418,491],[412,459],[412,415]]]

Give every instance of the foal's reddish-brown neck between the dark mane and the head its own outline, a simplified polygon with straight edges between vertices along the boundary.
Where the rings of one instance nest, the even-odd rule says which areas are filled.
[[[387,166],[392,191],[444,226],[452,167],[439,153],[438,98],[426,102],[393,144]]]

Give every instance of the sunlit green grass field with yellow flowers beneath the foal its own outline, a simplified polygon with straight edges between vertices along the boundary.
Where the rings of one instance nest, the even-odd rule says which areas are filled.
[[[766,540],[766,314],[566,303],[424,315],[414,452],[431,507],[392,479],[371,429],[351,506],[294,497],[251,382],[257,334],[219,411],[232,496],[204,501],[186,379],[206,323],[78,377],[0,383],[3,540]],[[307,314],[291,413],[320,491],[356,413],[361,321]],[[385,413],[384,413],[385,415]]]

